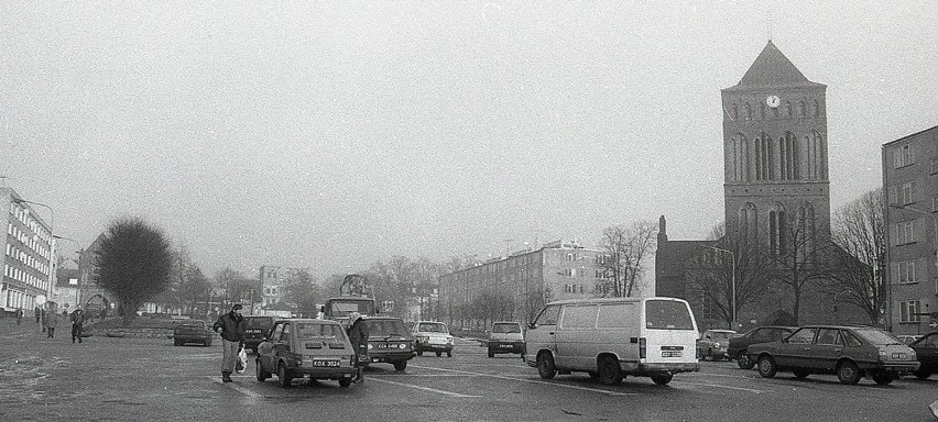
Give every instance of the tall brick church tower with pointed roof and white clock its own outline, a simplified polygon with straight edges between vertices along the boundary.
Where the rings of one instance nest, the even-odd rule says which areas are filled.
[[[814,242],[829,240],[826,89],[770,41],[740,82],[722,90],[728,234],[777,251],[793,233],[786,225],[798,222]]]

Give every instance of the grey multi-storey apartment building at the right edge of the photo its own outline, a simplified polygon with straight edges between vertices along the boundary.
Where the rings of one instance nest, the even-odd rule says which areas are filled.
[[[938,327],[938,126],[883,145],[888,318],[896,334]],[[931,316],[931,315],[935,316]]]

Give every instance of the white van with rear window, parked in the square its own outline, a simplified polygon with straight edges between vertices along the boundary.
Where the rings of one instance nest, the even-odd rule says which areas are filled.
[[[700,369],[697,321],[674,298],[602,298],[547,303],[524,335],[524,362],[541,378],[588,373],[604,385],[626,375],[657,385]]]

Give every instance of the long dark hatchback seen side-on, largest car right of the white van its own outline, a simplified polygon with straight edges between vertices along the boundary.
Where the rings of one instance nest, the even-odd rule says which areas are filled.
[[[749,347],[759,375],[772,378],[779,370],[797,378],[837,374],[842,384],[868,376],[887,385],[902,373],[918,369],[916,353],[891,333],[871,326],[808,325],[781,342]]]

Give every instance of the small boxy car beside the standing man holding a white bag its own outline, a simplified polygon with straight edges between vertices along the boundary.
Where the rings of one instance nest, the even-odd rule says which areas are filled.
[[[294,378],[334,379],[339,387],[351,385],[356,373],[355,351],[346,330],[336,321],[284,319],[274,321],[266,338],[258,345],[258,381],[276,374],[281,387]]]

